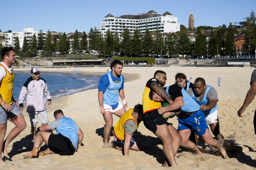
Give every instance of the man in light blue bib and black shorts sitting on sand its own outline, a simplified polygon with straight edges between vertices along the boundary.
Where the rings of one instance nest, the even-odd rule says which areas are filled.
[[[45,151],[41,151],[39,156],[57,153],[59,155],[73,155],[82,144],[84,134],[79,126],[71,118],[64,116],[63,111],[57,110],[53,113],[55,121],[41,126],[40,132],[36,134],[33,150],[23,156],[37,156],[39,147],[46,143],[49,146]],[[46,132],[56,130],[57,134]]]

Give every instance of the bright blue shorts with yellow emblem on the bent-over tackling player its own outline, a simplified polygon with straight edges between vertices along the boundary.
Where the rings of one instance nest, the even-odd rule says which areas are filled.
[[[204,113],[201,110],[196,111],[188,118],[178,118],[178,121],[178,130],[193,129],[198,135],[205,134],[206,128],[208,128],[206,125]]]

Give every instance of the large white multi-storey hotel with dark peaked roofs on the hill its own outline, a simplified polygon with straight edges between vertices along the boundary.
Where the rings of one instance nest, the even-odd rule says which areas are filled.
[[[145,33],[146,29],[149,31],[157,31],[161,33],[177,32],[180,31],[180,23],[177,17],[166,11],[164,14],[157,14],[156,11],[150,10],[148,13],[138,13],[138,15],[124,14],[120,17],[114,17],[108,14],[101,20],[100,31],[105,35],[108,31],[115,32],[120,36],[124,29],[128,28],[131,33],[134,33],[137,28],[140,32]]]

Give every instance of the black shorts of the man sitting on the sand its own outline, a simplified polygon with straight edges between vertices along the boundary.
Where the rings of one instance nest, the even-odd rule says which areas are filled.
[[[51,151],[59,155],[73,155],[75,153],[75,147],[71,140],[60,133],[50,134],[48,146]]]

